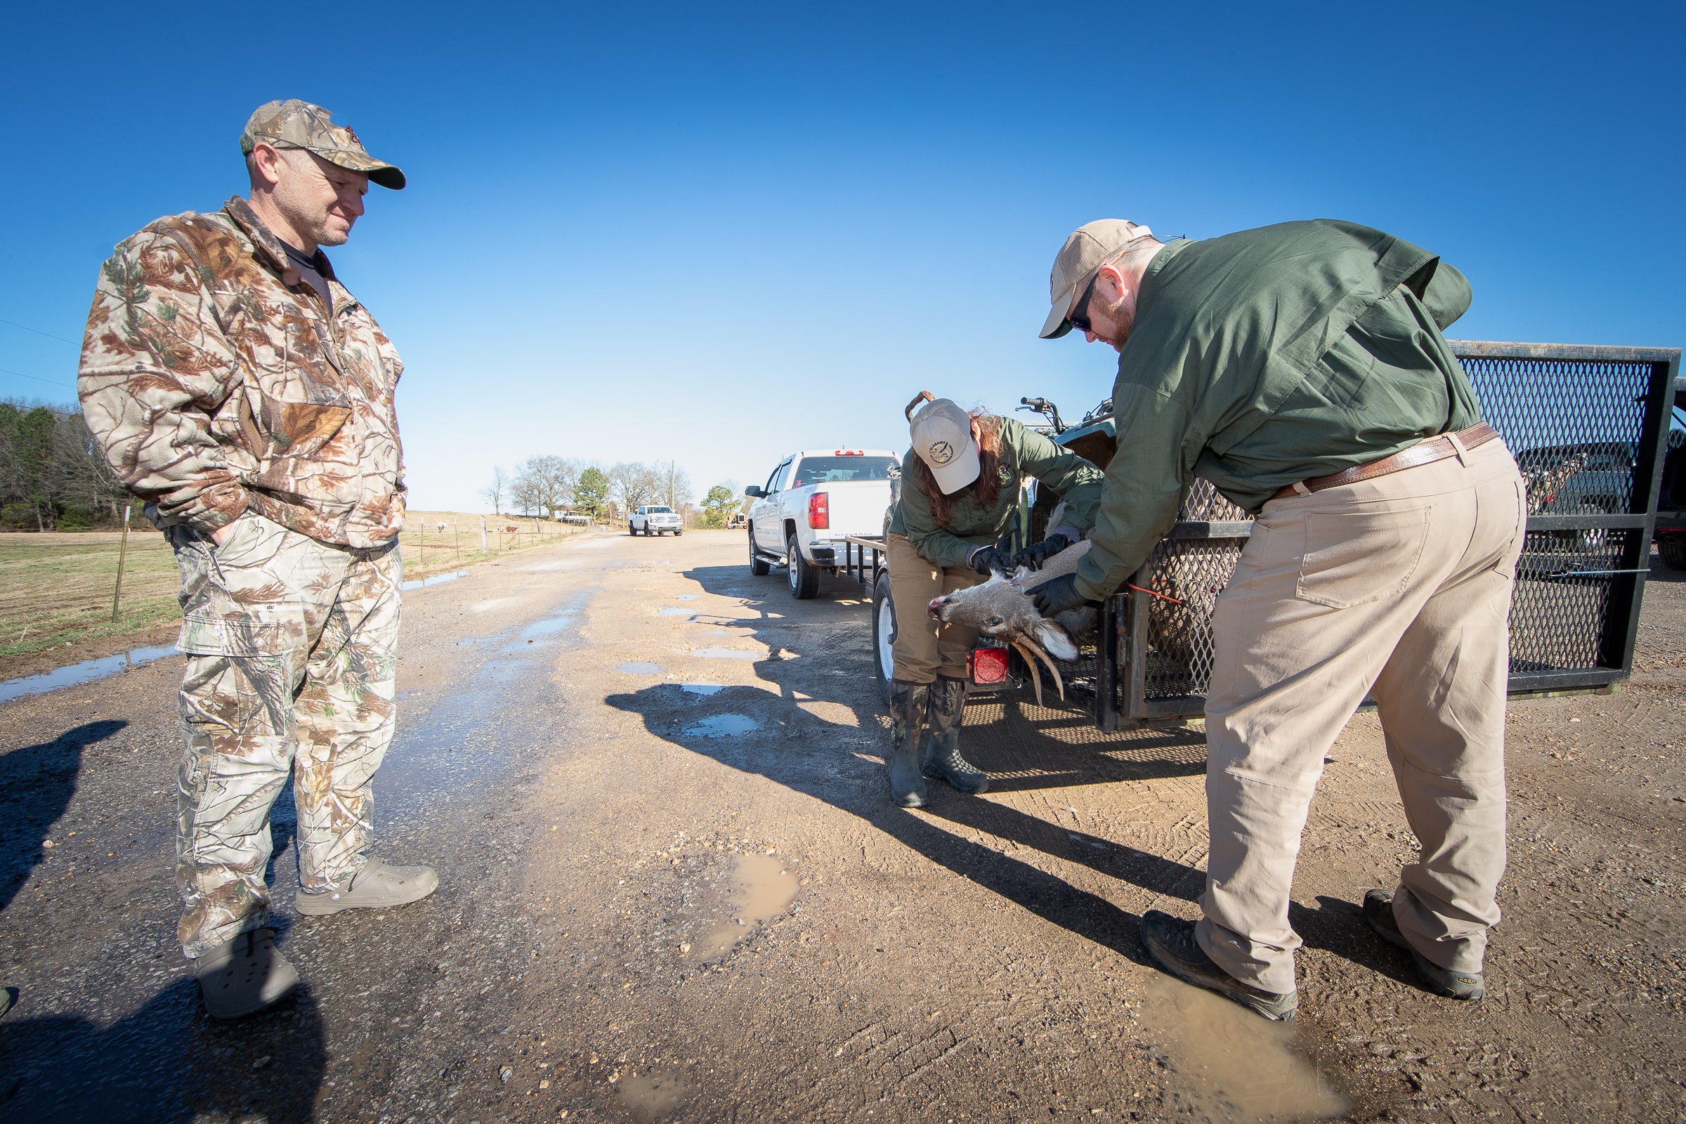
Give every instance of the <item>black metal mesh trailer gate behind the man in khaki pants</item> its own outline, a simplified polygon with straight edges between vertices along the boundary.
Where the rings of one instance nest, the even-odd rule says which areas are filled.
[[[1625,679],[1651,556],[1681,352],[1452,340],[1528,482],[1528,538],[1511,607],[1511,693]],[[1055,436],[1103,465],[1111,420]],[[1025,538],[1045,519],[1039,502]],[[1197,482],[1172,533],[1108,598],[1093,649],[1069,669],[1069,701],[1104,730],[1197,718],[1212,671],[1212,605],[1251,533]]]

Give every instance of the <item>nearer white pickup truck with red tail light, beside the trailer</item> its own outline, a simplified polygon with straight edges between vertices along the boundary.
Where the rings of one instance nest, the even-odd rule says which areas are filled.
[[[765,575],[786,566],[791,597],[819,591],[821,573],[838,573],[846,534],[883,534],[890,480],[900,474],[895,453],[882,448],[813,448],[791,453],[767,477],[747,487],[749,568]]]

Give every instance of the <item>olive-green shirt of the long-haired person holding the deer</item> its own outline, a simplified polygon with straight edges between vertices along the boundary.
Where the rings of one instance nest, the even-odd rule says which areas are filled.
[[[1060,448],[1035,430],[1027,430],[1013,418],[996,418],[1001,423],[1001,489],[995,502],[985,507],[971,490],[954,497],[949,506],[953,526],[939,527],[931,516],[931,497],[915,484],[914,450],[902,458],[902,499],[890,516],[890,534],[905,534],[919,556],[937,566],[964,566],[966,556],[978,546],[990,546],[1007,531],[1018,507],[1018,485],[1032,475],[1042,487],[1054,489],[1066,500],[1066,524],[1077,531],[1094,526],[1101,504],[1101,470]]]

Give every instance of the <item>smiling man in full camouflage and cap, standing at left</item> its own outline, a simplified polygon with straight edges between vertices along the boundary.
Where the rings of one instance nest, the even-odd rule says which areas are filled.
[[[288,773],[300,913],[433,891],[366,854],[393,738],[405,514],[403,364],[334,276],[376,160],[320,106],[271,101],[241,135],[251,199],[158,219],[99,271],[78,391],[182,571],[187,735],[177,790],[182,950],[219,1018],[298,982],[268,920],[270,806]]]

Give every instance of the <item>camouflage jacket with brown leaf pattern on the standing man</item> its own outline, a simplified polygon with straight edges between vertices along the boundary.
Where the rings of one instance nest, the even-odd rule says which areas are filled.
[[[239,197],[118,243],[78,394],[153,522],[209,533],[251,509],[341,546],[398,534],[403,362],[357,298],[329,285],[332,317]]]

